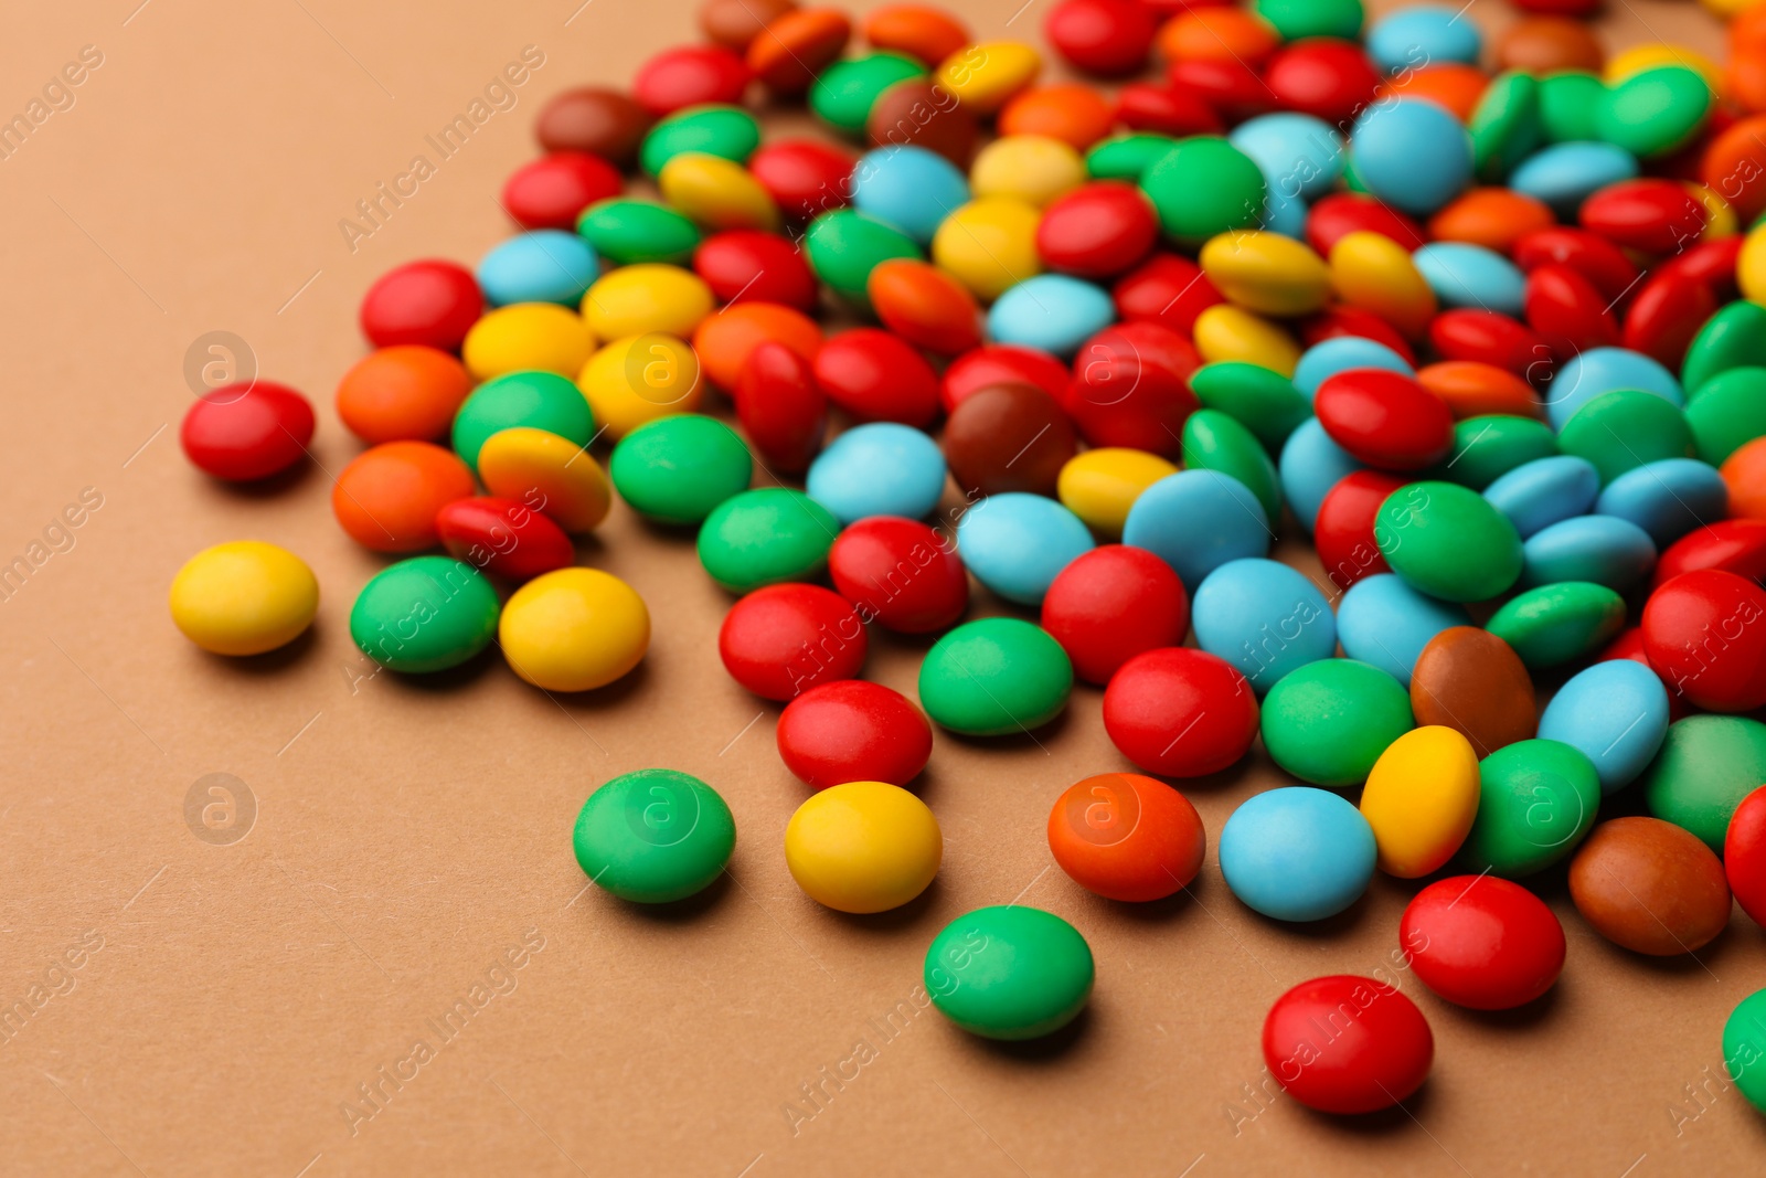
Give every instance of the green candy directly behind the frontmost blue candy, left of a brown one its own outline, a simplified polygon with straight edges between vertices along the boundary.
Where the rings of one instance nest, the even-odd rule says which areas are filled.
[[[1314,786],[1358,786],[1393,740],[1416,726],[1399,680],[1355,659],[1289,671],[1263,701],[1263,747]]]

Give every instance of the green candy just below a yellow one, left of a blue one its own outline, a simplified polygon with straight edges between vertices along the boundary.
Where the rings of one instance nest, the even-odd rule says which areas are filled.
[[[724,422],[703,413],[659,417],[625,434],[608,464],[620,498],[650,519],[699,523],[749,489],[754,456]]]

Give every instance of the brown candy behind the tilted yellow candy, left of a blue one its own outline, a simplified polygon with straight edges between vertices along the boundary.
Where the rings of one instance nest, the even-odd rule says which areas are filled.
[[[1533,678],[1513,646],[1476,625],[1429,639],[1411,671],[1416,724],[1441,724],[1471,742],[1478,759],[1538,731]]]

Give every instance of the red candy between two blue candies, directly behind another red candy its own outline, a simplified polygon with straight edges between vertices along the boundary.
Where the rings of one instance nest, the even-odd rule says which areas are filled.
[[[1106,544],[1054,578],[1042,599],[1042,629],[1061,645],[1079,678],[1107,683],[1128,659],[1183,643],[1190,599],[1171,565],[1153,553]]]

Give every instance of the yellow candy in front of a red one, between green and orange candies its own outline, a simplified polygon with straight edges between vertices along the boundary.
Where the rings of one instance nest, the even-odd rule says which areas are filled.
[[[839,911],[887,911],[925,890],[945,835],[925,802],[901,786],[853,781],[811,795],[784,828],[796,887]]]

